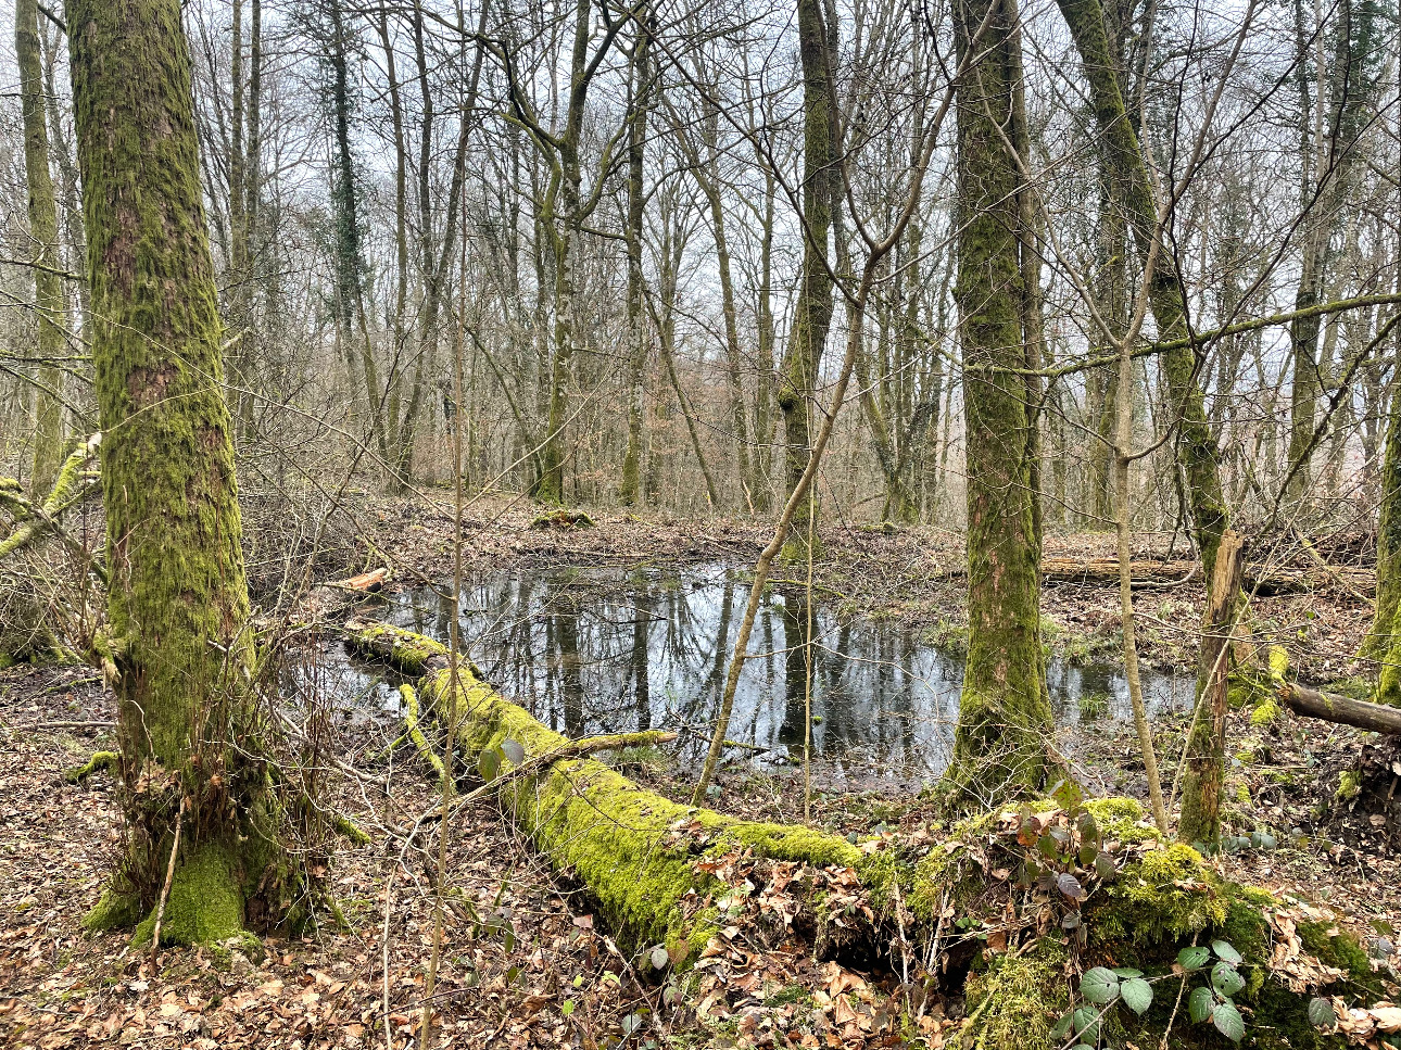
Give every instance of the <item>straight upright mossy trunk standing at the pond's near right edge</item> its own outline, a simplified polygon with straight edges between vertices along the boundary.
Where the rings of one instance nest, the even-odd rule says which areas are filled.
[[[1023,374],[1021,178],[1012,143],[1002,134],[1013,125],[1020,94],[1016,15],[1003,0],[971,0],[957,6],[954,31],[960,56],[978,57],[957,95],[955,301],[968,417],[968,661],[951,776],[957,787],[982,797],[1041,784],[1051,706],[1030,462],[1034,406]]]

